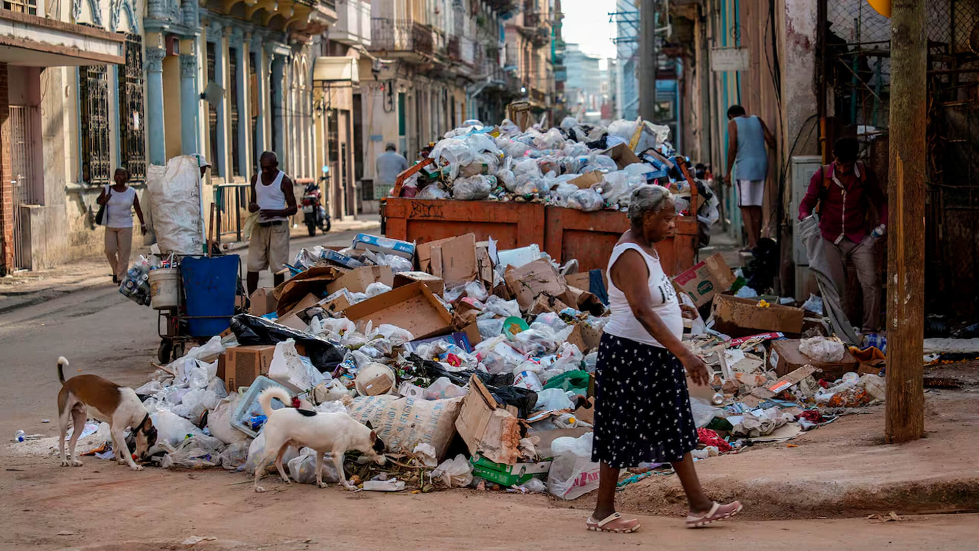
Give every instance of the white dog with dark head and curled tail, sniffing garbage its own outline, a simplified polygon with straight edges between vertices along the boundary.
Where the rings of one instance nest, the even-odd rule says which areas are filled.
[[[268,421],[262,427],[262,432],[265,434],[265,449],[261,461],[256,463],[256,492],[265,491],[265,488],[258,485],[258,479],[264,474],[265,466],[273,456],[279,476],[282,476],[282,480],[287,484],[290,482],[289,476],[286,476],[286,471],[282,468],[282,456],[290,445],[316,450],[316,483],[321,488],[326,487],[322,472],[324,453],[330,454],[337,476],[340,476],[341,483],[349,490],[356,489],[356,486],[348,482],[344,474],[345,453],[357,450],[373,459],[378,465],[385,464],[386,460],[381,455],[384,453],[384,441],[369,426],[357,423],[346,413],[318,413],[293,407],[273,410],[272,398],[278,398],[287,406],[292,399],[288,392],[279,387],[266,388],[258,395],[258,404],[261,405],[261,410]]]

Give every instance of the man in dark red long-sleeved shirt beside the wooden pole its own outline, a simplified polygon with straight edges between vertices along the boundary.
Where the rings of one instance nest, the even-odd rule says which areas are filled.
[[[833,163],[826,165],[809,181],[806,197],[799,204],[799,220],[810,216],[819,205],[819,232],[828,241],[823,248],[830,263],[845,270],[853,262],[863,291],[862,332],[880,329],[880,284],[877,275],[875,246],[887,225],[887,197],[877,178],[857,161],[860,143],[854,138],[840,138],[833,144]],[[880,225],[870,230],[872,211],[877,209]],[[840,288],[840,291],[843,289]],[[841,292],[842,294],[842,292]]]

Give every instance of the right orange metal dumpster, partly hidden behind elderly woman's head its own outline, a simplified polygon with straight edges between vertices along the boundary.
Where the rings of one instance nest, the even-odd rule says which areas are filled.
[[[579,271],[604,270],[609,255],[623,232],[629,229],[626,213],[547,207],[544,216],[544,250],[563,264],[578,259]],[[677,217],[676,233],[656,244],[667,275],[676,275],[694,264],[697,222]]]

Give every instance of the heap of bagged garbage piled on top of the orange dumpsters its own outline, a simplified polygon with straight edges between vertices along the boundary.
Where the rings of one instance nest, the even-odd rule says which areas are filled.
[[[686,169],[688,160],[669,135],[668,126],[641,119],[605,127],[568,117],[547,130],[522,130],[509,119],[500,125],[467,121],[423,152],[426,165],[405,180],[399,196],[626,211],[632,190],[653,183],[670,187],[676,213],[689,216],[692,183],[703,199],[697,216],[714,224],[719,200],[710,181]]]

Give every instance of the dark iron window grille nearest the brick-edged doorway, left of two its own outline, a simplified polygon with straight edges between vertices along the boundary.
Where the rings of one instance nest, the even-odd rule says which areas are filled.
[[[109,150],[109,77],[104,65],[78,68],[81,97],[82,179],[108,183],[112,160]]]

